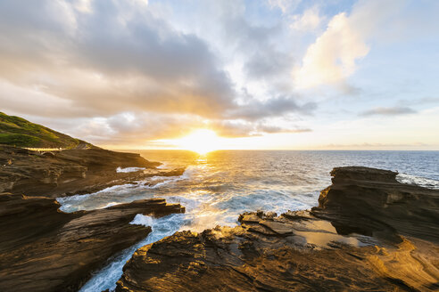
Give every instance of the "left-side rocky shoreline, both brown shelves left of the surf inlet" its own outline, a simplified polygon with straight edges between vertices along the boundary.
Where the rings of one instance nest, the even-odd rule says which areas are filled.
[[[1,145],[0,291],[77,291],[116,255],[151,232],[129,224],[137,214],[161,217],[185,207],[142,199],[93,211],[63,213],[57,197],[137,183],[162,171],[138,154],[110,150],[39,153]],[[117,173],[117,167],[145,167]]]

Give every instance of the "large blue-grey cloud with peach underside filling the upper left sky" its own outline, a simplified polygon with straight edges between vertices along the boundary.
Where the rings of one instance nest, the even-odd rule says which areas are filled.
[[[23,5],[6,1],[0,9],[0,77],[14,85],[100,115],[140,109],[207,117],[235,105],[234,85],[208,45],[137,2],[95,0],[87,13],[62,1]]]

